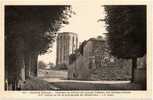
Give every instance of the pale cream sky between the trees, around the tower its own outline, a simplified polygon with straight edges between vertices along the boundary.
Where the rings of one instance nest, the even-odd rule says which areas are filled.
[[[79,42],[97,37],[105,33],[105,23],[97,22],[104,18],[104,9],[101,5],[72,5],[76,15],[69,19],[69,24],[60,29],[60,32],[74,32],[78,34]],[[56,63],[56,42],[53,44],[53,52],[38,57],[45,63]]]

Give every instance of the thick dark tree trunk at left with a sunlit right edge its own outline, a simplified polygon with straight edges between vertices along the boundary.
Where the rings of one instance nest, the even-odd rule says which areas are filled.
[[[20,87],[20,82],[25,81],[25,62],[24,62],[24,40],[21,37],[12,39],[10,59],[8,65],[8,83],[10,90]]]

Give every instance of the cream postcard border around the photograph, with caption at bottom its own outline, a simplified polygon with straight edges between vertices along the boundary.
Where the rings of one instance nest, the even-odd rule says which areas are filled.
[[[153,26],[153,7],[152,7],[152,1],[151,0],[4,0],[0,1],[0,98],[33,98],[38,97],[42,98],[68,98],[71,97],[105,97],[105,98],[151,98],[152,93],[152,26]],[[71,95],[59,95],[55,91],[4,91],[4,6],[5,5],[95,5],[95,4],[101,3],[101,5],[147,5],[147,90],[146,91],[116,91],[118,93],[115,93],[115,91],[101,91],[104,93],[96,93],[97,91],[91,91],[95,92],[96,95],[92,96],[85,96],[85,95],[76,95],[76,93],[73,93],[74,91],[62,91],[63,93],[70,92]],[[53,94],[51,96],[45,96],[41,95],[39,93],[50,93]],[[75,91],[78,93],[87,93],[90,91]],[[108,96],[107,92],[110,92],[113,94],[113,96]],[[106,95],[104,95],[106,93]],[[74,96],[72,96],[74,94]],[[97,95],[98,94],[98,95]]]

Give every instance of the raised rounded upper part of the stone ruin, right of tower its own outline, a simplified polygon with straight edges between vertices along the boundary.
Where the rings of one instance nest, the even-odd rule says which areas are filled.
[[[112,66],[116,58],[110,54],[106,40],[91,38],[83,48],[83,56],[88,58],[96,67]]]

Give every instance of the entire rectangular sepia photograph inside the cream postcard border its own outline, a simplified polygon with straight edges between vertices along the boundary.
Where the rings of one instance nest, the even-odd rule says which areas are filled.
[[[5,91],[146,91],[146,12],[146,5],[5,5]]]

